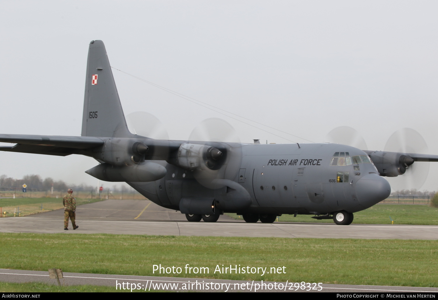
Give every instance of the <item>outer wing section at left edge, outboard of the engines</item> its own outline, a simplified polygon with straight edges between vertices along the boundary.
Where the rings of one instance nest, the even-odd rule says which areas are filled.
[[[104,141],[92,136],[37,136],[23,134],[0,134],[0,142],[15,143],[15,146],[0,146],[0,151],[67,156],[88,154],[84,149],[100,146]]]

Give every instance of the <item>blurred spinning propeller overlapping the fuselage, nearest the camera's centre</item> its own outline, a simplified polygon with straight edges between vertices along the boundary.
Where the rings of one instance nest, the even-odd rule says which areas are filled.
[[[194,178],[209,189],[225,186],[223,181],[215,179],[233,178],[240,168],[241,147],[233,145],[240,143],[236,130],[230,123],[220,118],[208,118],[196,126],[189,136],[189,143],[200,141],[212,142],[211,162],[214,167],[201,168],[193,171]],[[220,151],[220,154],[218,153]]]

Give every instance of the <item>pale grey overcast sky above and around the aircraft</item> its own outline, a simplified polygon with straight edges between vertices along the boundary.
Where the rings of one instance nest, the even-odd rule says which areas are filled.
[[[412,128],[438,154],[437,9],[400,0],[2,0],[0,132],[79,136],[88,43],[101,39],[113,67],[295,136],[326,142],[346,125],[383,150],[393,132]],[[224,118],[242,142],[304,142],[113,73],[125,114],[155,115],[170,139]],[[0,152],[0,174],[16,178],[97,184],[84,173],[96,164]],[[422,189],[438,190],[438,163]]]

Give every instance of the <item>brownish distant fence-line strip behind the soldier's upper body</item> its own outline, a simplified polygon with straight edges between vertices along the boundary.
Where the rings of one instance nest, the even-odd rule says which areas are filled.
[[[0,197],[15,197],[15,198],[62,198],[67,194],[67,191],[42,191],[39,189],[26,188],[26,192],[23,192],[23,188],[0,188]],[[82,199],[146,199],[143,195],[137,191],[111,191],[110,189],[104,189],[102,193],[96,193],[96,190],[88,191],[73,191],[74,196]]]

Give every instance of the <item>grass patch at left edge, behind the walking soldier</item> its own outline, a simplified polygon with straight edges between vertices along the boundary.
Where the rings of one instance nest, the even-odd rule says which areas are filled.
[[[102,200],[76,198],[76,205],[93,203]],[[44,210],[41,209],[41,205]],[[23,217],[29,214],[38,214],[43,211],[60,209],[63,208],[64,205],[62,204],[62,198],[4,198],[0,199],[0,207],[2,208],[2,211],[7,212],[7,217],[13,217],[14,211],[17,212],[18,216],[19,208],[21,211],[21,216]]]

